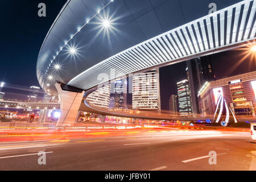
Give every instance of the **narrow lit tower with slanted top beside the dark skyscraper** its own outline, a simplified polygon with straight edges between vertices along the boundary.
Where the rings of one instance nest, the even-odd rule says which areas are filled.
[[[177,82],[177,97],[180,115],[191,115],[192,108],[188,80]]]

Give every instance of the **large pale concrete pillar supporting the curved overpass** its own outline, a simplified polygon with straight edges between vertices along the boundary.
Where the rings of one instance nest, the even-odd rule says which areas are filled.
[[[84,91],[82,93],[77,93],[62,90],[58,83],[55,84],[55,87],[59,93],[61,111],[57,125],[71,126],[76,122]]]

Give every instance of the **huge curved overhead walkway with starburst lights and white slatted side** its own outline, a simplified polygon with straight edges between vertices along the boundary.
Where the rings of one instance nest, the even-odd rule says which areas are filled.
[[[255,41],[255,0],[69,0],[38,56],[42,88],[96,85]],[[236,3],[236,4],[234,4]],[[60,94],[60,89],[58,90]],[[75,96],[74,96],[75,97]]]

